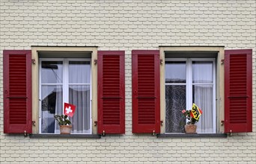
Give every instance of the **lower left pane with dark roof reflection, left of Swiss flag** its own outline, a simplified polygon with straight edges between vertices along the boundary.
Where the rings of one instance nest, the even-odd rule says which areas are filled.
[[[54,116],[62,114],[62,86],[42,86],[41,92],[41,132],[57,133]]]

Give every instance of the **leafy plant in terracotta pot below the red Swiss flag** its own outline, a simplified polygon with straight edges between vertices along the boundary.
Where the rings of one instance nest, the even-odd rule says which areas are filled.
[[[55,115],[54,118],[58,121],[60,125],[61,134],[70,134],[72,130],[72,125],[69,119],[67,119],[67,115]]]

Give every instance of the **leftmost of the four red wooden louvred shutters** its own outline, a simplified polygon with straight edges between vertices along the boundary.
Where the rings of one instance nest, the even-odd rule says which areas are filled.
[[[32,133],[31,51],[4,50],[4,133]]]

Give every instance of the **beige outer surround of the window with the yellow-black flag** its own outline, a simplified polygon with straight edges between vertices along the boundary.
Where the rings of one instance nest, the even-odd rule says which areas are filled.
[[[216,134],[224,133],[224,48],[225,46],[169,46],[161,45],[159,46],[160,51],[160,113],[161,113],[161,134],[165,133],[165,56],[171,57],[168,53],[174,52],[209,52],[209,58],[216,58],[216,101],[213,103],[216,105]],[[212,56],[210,53],[216,53],[216,56]],[[189,56],[190,57],[190,56]],[[201,56],[199,56],[201,57]],[[177,55],[174,55],[177,58]],[[180,58],[184,58],[180,56]],[[186,57],[185,57],[186,58]],[[193,57],[198,58],[198,57]],[[170,134],[166,134],[170,135]],[[181,134],[183,135],[183,134]]]

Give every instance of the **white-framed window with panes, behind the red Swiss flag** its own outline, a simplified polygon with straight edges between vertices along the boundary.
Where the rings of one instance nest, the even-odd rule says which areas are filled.
[[[40,59],[40,133],[59,133],[55,115],[76,105],[72,133],[91,133],[91,60]]]

